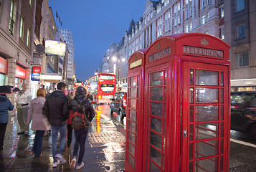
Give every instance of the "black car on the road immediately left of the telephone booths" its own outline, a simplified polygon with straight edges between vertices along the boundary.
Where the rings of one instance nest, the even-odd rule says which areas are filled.
[[[117,113],[120,119],[126,116],[126,92],[115,92],[115,95],[110,102],[110,115]]]

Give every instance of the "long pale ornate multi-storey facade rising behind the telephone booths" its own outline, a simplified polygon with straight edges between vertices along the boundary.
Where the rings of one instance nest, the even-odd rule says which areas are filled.
[[[132,19],[128,31],[125,32],[122,47],[118,52],[113,52],[115,55],[108,56],[111,63],[111,57],[118,55],[116,68],[119,69],[120,80],[117,79],[117,82],[122,85],[123,90],[127,85],[128,59],[133,52],[149,47],[159,37],[183,32],[201,32],[224,39],[224,1],[146,1],[143,17],[138,22]],[[110,69],[114,69],[113,65],[109,64],[108,69],[112,72]]]

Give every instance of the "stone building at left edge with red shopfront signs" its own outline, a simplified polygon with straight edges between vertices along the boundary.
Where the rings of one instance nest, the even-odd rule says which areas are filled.
[[[0,0],[0,85],[29,84],[35,0]],[[9,95],[14,103],[15,94]]]

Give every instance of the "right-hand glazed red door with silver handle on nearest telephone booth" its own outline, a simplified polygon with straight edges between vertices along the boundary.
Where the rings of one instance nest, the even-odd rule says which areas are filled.
[[[183,62],[181,171],[227,171],[229,67]]]

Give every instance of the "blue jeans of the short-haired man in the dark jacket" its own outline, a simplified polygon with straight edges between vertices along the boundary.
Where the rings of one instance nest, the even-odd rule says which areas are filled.
[[[59,150],[57,151],[58,132],[60,132],[60,146],[59,146]],[[54,159],[54,163],[56,162],[56,159],[55,159],[56,154],[62,154],[62,152],[65,150],[66,134],[67,134],[67,125],[52,126],[52,156]]]

